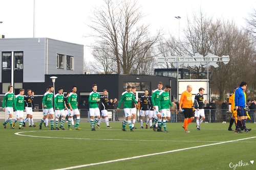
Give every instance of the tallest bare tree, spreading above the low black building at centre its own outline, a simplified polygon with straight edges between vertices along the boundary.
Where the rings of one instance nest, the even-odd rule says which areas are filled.
[[[96,44],[92,46],[96,49],[102,44],[107,45],[108,50],[101,50],[98,58],[108,52],[102,57],[108,56],[116,63],[117,74],[130,74],[132,68],[137,69],[141,60],[145,59],[144,54],[148,54],[147,51],[153,48],[161,34],[158,32],[156,36],[150,36],[149,26],[139,24],[143,15],[136,1],[104,1],[105,6],[96,9],[90,18],[93,23],[89,25],[93,30],[91,36],[95,37]]]

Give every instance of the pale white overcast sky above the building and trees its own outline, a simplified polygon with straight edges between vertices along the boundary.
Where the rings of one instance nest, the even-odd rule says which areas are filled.
[[[48,37],[62,41],[88,45],[91,40],[84,38],[89,28],[88,16],[103,0],[35,0],[35,37]],[[186,17],[200,9],[207,16],[234,20],[245,27],[244,18],[256,7],[256,1],[246,0],[138,0],[145,14],[144,22],[151,24],[152,32],[157,29],[178,34],[185,27]],[[34,0],[0,0],[0,34],[6,38],[33,37]],[[91,59],[90,49],[84,48],[84,56]]]

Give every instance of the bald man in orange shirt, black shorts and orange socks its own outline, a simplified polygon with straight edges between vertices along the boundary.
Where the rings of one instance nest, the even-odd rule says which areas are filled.
[[[187,85],[187,90],[181,93],[180,97],[180,104],[179,104],[179,112],[184,110],[184,125],[182,128],[185,129],[186,133],[189,133],[187,130],[187,125],[194,120],[194,113],[193,113],[193,101],[192,101],[192,86]],[[182,108],[181,108],[182,106]]]

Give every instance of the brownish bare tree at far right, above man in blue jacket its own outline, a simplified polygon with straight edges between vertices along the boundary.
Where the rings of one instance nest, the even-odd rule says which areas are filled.
[[[254,79],[251,79],[253,75],[249,68],[253,68],[253,65],[255,67],[255,62],[251,62],[255,61],[255,44],[251,41],[248,32],[238,28],[234,22],[223,22],[216,37],[218,38],[215,39],[215,45],[211,48],[212,52],[218,56],[229,55],[230,57],[227,65],[219,63],[212,79],[215,89],[220,92],[220,99],[223,99],[224,90],[231,93],[233,87],[242,81],[253,84]]]

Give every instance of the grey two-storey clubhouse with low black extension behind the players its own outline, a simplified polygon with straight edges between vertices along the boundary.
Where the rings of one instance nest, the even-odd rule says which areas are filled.
[[[51,38],[3,38],[0,39],[1,71],[0,90],[3,95],[13,82],[14,94],[20,88],[35,92],[34,103],[41,109],[42,94],[49,85],[50,77],[56,76],[55,93],[59,87],[64,91],[77,86],[78,104],[88,102],[92,84],[97,84],[98,92],[109,91],[109,99],[120,99],[127,85],[135,86],[137,96],[145,89],[157,88],[159,81],[164,86],[170,84],[170,95],[177,94],[176,78],[157,75],[90,75],[83,72],[83,45]],[[37,96],[38,95],[38,96]]]

